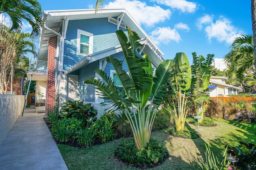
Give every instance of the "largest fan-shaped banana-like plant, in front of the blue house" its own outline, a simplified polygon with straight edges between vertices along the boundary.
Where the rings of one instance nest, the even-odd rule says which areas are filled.
[[[174,61],[166,60],[160,63],[153,76],[150,59],[147,55],[141,56],[137,51],[137,48],[142,46],[138,42],[140,37],[130,28],[127,28],[127,31],[129,39],[122,30],[118,30],[116,35],[122,46],[129,74],[124,71],[123,61],[106,57],[106,61],[112,63],[122,84],[121,90],[102,70],[96,70],[102,80],[92,77],[86,79],[84,83],[95,85],[98,95],[108,100],[108,105],[112,105],[109,111],[122,111],[126,115],[132,128],[136,148],[145,149],[150,140],[156,111],[159,105],[168,99],[167,82]],[[148,104],[149,99],[151,100]]]

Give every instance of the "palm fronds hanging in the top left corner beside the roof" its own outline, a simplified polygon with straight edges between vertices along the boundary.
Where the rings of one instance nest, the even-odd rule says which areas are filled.
[[[40,35],[43,26],[43,13],[41,5],[36,0],[0,0],[0,14],[6,14],[12,20],[10,30],[21,30],[22,20],[26,20],[32,26],[31,37]]]

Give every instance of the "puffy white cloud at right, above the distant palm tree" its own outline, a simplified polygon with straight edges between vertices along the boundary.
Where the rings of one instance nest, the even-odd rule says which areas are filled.
[[[215,23],[211,23],[205,28],[205,31],[209,40],[216,38],[218,42],[232,43],[235,38],[240,36],[236,28],[226,18],[220,18]]]

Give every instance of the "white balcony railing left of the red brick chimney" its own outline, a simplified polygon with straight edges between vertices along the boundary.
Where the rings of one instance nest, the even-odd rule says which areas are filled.
[[[47,73],[47,61],[30,59],[28,71],[35,73]]]

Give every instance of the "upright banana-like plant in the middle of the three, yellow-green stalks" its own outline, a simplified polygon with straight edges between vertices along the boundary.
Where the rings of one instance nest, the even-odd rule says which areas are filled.
[[[176,53],[173,61],[170,82],[178,95],[178,99],[177,107],[175,101],[172,100],[172,110],[176,130],[180,131],[184,130],[185,119],[188,113],[186,91],[191,85],[191,68],[185,53]]]

